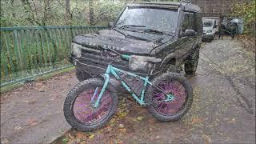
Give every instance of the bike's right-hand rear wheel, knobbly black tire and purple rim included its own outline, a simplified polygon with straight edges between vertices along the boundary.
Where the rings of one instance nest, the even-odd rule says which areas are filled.
[[[172,94],[171,100],[166,100],[166,94],[150,86],[146,94],[146,102],[150,103],[150,114],[162,122],[176,121],[182,118],[193,102],[193,90],[186,78],[180,74],[165,73],[154,78],[154,86],[158,86],[166,94]]]

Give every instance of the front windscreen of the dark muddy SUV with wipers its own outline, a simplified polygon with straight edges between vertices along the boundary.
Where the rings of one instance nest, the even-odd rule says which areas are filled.
[[[127,6],[115,27],[131,26],[133,28],[175,33],[177,22],[177,10]]]

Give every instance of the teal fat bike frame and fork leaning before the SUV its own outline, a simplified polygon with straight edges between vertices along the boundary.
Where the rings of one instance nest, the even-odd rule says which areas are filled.
[[[121,72],[123,74],[127,74],[127,75],[130,75],[132,77],[138,77],[140,79],[142,79],[144,81],[144,87],[141,91],[141,95],[140,95],[140,98],[138,98],[138,95],[134,93],[133,90],[130,89],[130,86],[128,86],[126,84],[126,82],[124,82],[122,80],[122,78],[120,78],[120,76],[117,74],[118,72]],[[108,83],[110,82],[110,74],[114,75],[114,78],[118,79],[119,82],[121,82],[122,86],[126,88],[126,90],[129,91],[129,93],[134,97],[134,99],[141,105],[146,105],[146,102],[144,100],[144,96],[145,96],[145,90],[146,90],[146,86],[148,85],[152,85],[152,83],[149,81],[149,77],[141,77],[137,74],[132,74],[130,72],[126,72],[125,70],[120,70],[114,66],[112,66],[111,64],[109,64],[107,66],[107,69],[106,69],[106,73],[104,74],[104,78],[105,78],[105,82],[104,82],[104,85],[102,87],[102,90],[100,92],[100,94],[98,95],[98,99],[97,101],[94,103],[94,108],[98,107],[99,105],[99,102],[100,102],[100,99],[102,98],[102,94],[104,93],[104,91],[106,90],[106,86],[108,85]],[[95,95],[96,95],[96,92],[98,91],[98,87],[96,88],[96,90],[94,91],[94,95],[93,95],[93,98],[92,100],[94,99]]]

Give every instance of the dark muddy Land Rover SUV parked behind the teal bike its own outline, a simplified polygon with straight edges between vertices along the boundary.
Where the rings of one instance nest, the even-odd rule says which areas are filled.
[[[98,77],[109,62],[101,57],[102,48],[120,54],[161,58],[155,73],[177,71],[184,65],[186,74],[194,74],[202,42],[200,8],[189,2],[143,2],[127,4],[109,30],[82,34],[72,41],[70,61],[76,66],[79,81]],[[130,70],[129,62],[112,63]],[[146,71],[133,71],[146,74]]]

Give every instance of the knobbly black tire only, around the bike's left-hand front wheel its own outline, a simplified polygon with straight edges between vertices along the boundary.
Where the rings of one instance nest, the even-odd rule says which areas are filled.
[[[98,130],[106,125],[107,122],[110,121],[113,114],[115,114],[115,111],[118,106],[118,96],[116,93],[116,90],[114,90],[114,87],[111,85],[108,85],[106,87],[106,90],[110,91],[111,97],[113,99],[113,105],[110,107],[110,111],[107,114],[106,118],[104,118],[101,122],[96,123],[95,125],[85,125],[82,124],[75,118],[74,112],[72,110],[74,100],[78,97],[79,94],[81,94],[84,90],[92,87],[92,86],[103,86],[103,81],[99,78],[90,78],[83,82],[79,82],[78,85],[74,86],[72,90],[70,90],[69,94],[67,94],[67,97],[64,102],[63,111],[64,116],[66,118],[66,121],[72,126],[73,128],[81,131],[93,131]]]

